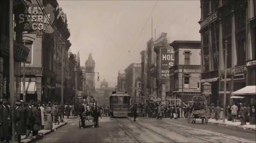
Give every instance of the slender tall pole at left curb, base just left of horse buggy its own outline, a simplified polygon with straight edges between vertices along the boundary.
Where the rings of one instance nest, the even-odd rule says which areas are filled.
[[[64,47],[64,43],[61,43],[61,122],[63,122],[63,112],[64,112],[64,51],[65,47]]]

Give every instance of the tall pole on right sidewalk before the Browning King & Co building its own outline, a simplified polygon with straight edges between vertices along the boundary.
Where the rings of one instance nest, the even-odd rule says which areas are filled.
[[[226,92],[227,92],[227,48],[228,48],[228,41],[225,41],[225,67],[224,67],[224,100],[223,100],[223,122],[225,123],[225,111],[226,111]]]

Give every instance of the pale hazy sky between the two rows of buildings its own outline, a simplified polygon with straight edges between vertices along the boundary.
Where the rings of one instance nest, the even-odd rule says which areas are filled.
[[[151,38],[151,17],[153,38],[156,28],[156,38],[161,32],[166,32],[169,43],[174,40],[200,40],[199,0],[159,0],[157,4],[153,0],[58,0],[58,4],[67,14],[71,33],[69,40],[72,43],[70,49],[73,54],[79,51],[81,65],[85,66],[92,50],[96,63],[94,71],[100,72],[100,81],[96,80],[97,88],[104,77],[109,86],[114,87],[119,70],[124,72],[130,63],[141,63],[140,52],[146,49],[146,42]]]

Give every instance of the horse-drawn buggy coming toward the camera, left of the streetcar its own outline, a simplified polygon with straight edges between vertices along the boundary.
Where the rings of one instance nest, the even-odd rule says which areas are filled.
[[[97,102],[93,97],[89,103],[80,104],[79,107],[79,128],[88,128],[85,126],[85,122],[92,120],[92,128],[99,127],[100,109],[97,107]],[[90,127],[89,127],[90,128]]]

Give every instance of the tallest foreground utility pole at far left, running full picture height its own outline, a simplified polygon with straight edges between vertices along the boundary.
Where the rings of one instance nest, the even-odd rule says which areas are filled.
[[[9,53],[9,66],[10,66],[10,106],[11,106],[11,116],[14,117],[14,57],[13,57],[13,0],[9,1],[9,39],[10,39],[10,53]],[[11,141],[15,142],[16,132],[15,132],[15,120],[11,118],[12,123],[12,138]]]

